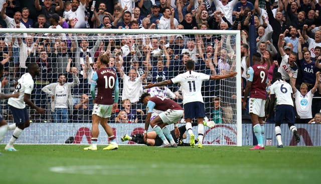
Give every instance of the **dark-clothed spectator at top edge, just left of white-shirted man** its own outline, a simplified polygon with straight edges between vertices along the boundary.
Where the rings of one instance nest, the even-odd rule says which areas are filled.
[[[63,10],[64,2],[59,0],[59,5],[56,6],[56,4],[52,3],[52,0],[44,0],[44,5],[40,5],[39,0],[35,0],[35,7],[39,14],[44,14],[46,16],[46,21],[50,22],[50,14]]]

